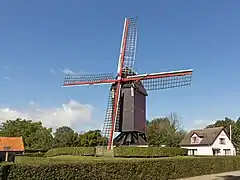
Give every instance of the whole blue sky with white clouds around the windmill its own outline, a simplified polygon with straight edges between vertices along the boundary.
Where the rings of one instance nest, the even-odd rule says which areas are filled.
[[[125,17],[138,16],[135,69],[193,69],[188,87],[151,91],[147,119],[185,129],[240,116],[240,1],[0,1],[0,120],[101,129],[108,85],[63,88],[65,73],[116,72]]]

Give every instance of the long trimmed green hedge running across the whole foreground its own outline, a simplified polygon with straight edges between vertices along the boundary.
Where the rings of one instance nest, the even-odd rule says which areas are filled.
[[[6,169],[9,169],[7,171]],[[5,169],[5,170],[4,170]],[[240,157],[174,157],[13,164],[3,168],[11,180],[176,179],[240,169]]]

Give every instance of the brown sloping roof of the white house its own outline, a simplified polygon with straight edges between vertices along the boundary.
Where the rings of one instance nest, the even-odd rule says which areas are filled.
[[[184,139],[180,142],[180,146],[198,146],[198,145],[211,145],[217,136],[224,130],[223,127],[206,128],[206,129],[196,129],[190,131]],[[191,144],[191,137],[193,134],[197,134],[202,138],[199,144]]]

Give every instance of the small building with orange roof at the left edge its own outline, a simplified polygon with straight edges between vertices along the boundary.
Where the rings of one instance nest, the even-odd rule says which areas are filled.
[[[15,154],[23,154],[22,137],[0,137],[0,161],[13,161]]]

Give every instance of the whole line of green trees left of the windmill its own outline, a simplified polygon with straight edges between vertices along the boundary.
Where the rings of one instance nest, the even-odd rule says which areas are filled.
[[[26,152],[46,152],[51,148],[95,147],[107,144],[107,139],[102,137],[100,130],[78,134],[70,127],[62,126],[53,135],[52,129],[43,127],[41,122],[20,118],[3,122],[0,128],[0,136],[22,136]]]

